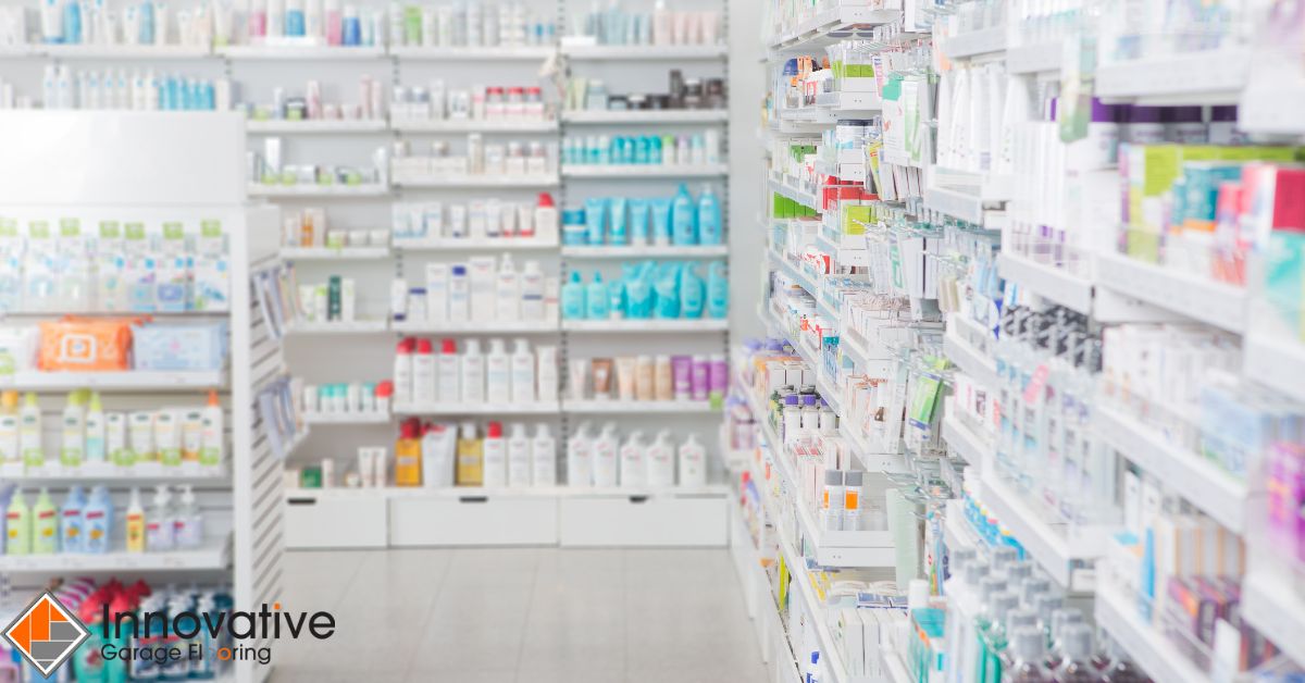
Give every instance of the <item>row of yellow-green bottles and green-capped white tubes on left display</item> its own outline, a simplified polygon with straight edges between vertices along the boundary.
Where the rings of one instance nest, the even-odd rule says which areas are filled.
[[[204,407],[106,413],[99,393],[80,389],[68,394],[59,448],[47,449],[37,394],[29,392],[20,407],[18,392],[7,390],[0,394],[0,462],[42,468],[57,453],[64,468],[82,462],[217,466],[226,448],[223,423],[217,392],[209,392]]]

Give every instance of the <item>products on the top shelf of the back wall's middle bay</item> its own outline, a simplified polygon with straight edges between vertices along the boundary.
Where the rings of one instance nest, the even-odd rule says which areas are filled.
[[[392,47],[523,47],[556,40],[551,16],[523,3],[390,5]]]

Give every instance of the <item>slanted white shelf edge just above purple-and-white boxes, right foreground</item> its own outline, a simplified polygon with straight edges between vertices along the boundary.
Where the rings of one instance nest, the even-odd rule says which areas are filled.
[[[1298,381],[1300,376],[1297,376]],[[1236,534],[1246,533],[1248,488],[1212,461],[1171,444],[1159,430],[1098,397],[1092,427],[1124,457]]]

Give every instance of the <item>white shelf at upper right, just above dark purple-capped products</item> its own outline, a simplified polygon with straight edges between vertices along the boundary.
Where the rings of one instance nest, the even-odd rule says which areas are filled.
[[[1095,95],[1143,104],[1236,104],[1250,77],[1250,48],[1144,57],[1096,68]]]

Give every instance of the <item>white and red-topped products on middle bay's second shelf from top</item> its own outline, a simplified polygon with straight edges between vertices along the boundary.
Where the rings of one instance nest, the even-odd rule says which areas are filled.
[[[395,123],[544,123],[553,119],[538,85],[450,89],[441,80],[425,87],[394,86],[390,112]]]

